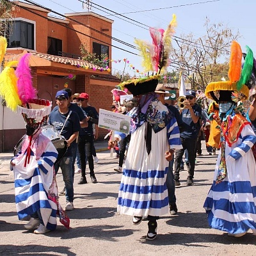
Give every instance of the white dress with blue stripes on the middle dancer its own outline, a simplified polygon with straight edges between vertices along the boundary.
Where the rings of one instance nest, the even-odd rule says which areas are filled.
[[[159,100],[151,102],[158,113],[168,111]],[[154,112],[156,113],[156,112]],[[152,120],[152,116],[150,118]],[[181,148],[179,127],[175,118],[159,132],[152,131],[151,151],[147,153],[144,122],[131,134],[129,150],[118,193],[117,211],[131,216],[161,216],[168,213],[165,184],[168,161],[165,152]]]

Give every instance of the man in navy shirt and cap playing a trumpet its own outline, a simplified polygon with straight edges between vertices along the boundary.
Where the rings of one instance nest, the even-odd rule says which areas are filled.
[[[188,150],[188,178],[187,186],[193,185],[195,158],[196,158],[196,141],[200,131],[200,116],[202,116],[202,108],[195,103],[196,93],[193,90],[186,92],[186,100],[184,100],[185,109],[181,112],[182,122],[184,123],[184,131],[180,133],[182,149],[175,152],[175,186],[180,186],[180,164],[184,151]]]

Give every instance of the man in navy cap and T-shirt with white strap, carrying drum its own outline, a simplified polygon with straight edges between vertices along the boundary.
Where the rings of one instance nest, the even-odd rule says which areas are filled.
[[[68,93],[61,90],[56,93],[56,103],[58,105],[58,111],[52,111],[49,115],[49,124],[54,125],[57,131],[67,140],[67,152],[65,155],[54,164],[55,172],[58,173],[59,168],[63,175],[66,188],[66,211],[72,211],[74,209],[74,186],[72,176],[72,143],[76,141],[78,133],[80,131],[79,116],[75,111],[71,111],[68,108]]]

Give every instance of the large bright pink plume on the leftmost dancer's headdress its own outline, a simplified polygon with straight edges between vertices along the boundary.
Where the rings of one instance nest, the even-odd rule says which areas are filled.
[[[24,54],[15,70],[15,75],[18,78],[17,88],[22,105],[28,103],[30,99],[36,98],[36,89],[33,87],[29,68],[29,56],[29,53]]]

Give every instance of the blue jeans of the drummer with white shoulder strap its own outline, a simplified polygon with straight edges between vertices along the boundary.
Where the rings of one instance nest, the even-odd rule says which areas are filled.
[[[74,186],[71,166],[73,158],[74,157],[62,157],[58,163],[54,164],[56,174],[58,173],[59,168],[61,168],[66,188],[66,200],[68,202],[73,202],[74,199]]]

